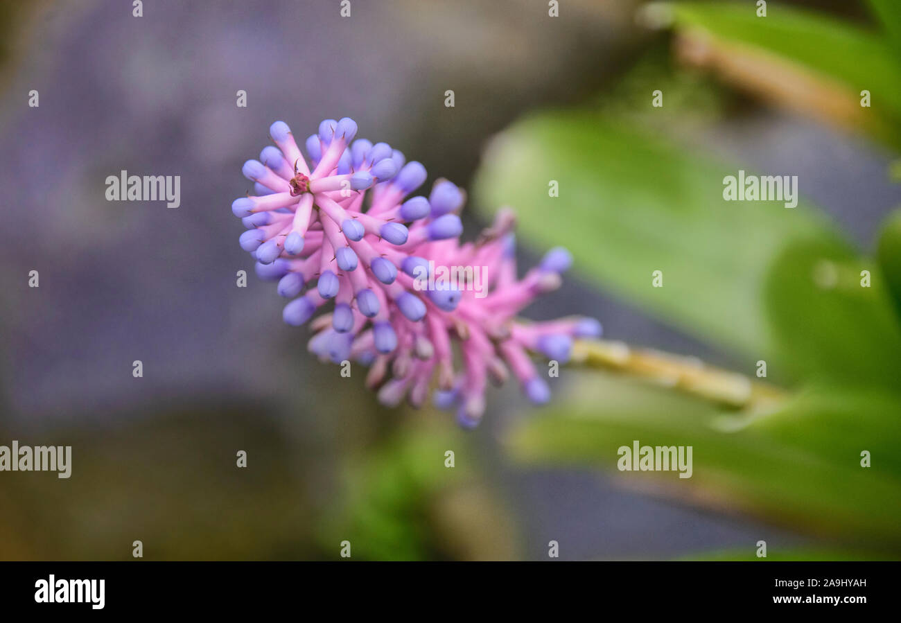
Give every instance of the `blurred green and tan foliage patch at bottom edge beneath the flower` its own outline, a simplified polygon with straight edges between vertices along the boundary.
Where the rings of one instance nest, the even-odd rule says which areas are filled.
[[[453,469],[444,465],[450,449]],[[446,419],[400,429],[346,466],[319,530],[323,551],[349,540],[357,560],[514,557],[515,529],[473,465],[469,438]]]

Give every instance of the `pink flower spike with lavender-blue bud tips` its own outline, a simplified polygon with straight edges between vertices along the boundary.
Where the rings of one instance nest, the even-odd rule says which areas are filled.
[[[485,411],[487,378],[502,383],[509,371],[532,402],[546,402],[550,391],[530,353],[565,363],[572,340],[598,336],[600,325],[587,318],[526,323],[516,314],[560,285],[569,253],[551,250],[518,279],[511,212],[461,244],[463,191],[440,179],[428,197],[408,198],[425,182],[425,167],[387,143],[354,140],[356,133],[348,118],[323,121],[305,141],[308,161],[287,124],[275,122],[276,145],[244,163],[255,194],[232,203],[247,228],[241,248],[259,277],[278,280],[278,293],[291,299],[284,320],[305,324],[333,299],[331,313],[312,322],[310,350],[369,366],[367,384],[380,385],[378,398],[389,405],[406,397],[420,406],[437,384],[434,402],[455,407],[460,424],[471,427]],[[486,267],[481,290],[424,287],[435,266]]]

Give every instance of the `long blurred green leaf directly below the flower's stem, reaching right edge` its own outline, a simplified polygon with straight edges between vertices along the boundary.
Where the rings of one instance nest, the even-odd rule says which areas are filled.
[[[627,485],[719,510],[742,510],[847,546],[901,552],[901,436],[894,394],[811,391],[736,432],[714,407],[623,378],[580,374],[569,401],[514,430],[513,456],[596,465]],[[694,473],[618,472],[617,448],[692,446]],[[872,466],[860,466],[860,452]]]

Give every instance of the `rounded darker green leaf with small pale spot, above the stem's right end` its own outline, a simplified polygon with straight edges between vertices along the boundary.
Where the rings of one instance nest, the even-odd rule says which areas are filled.
[[[842,387],[897,387],[901,326],[874,261],[798,241],[773,263],[763,298],[780,360],[796,374]]]

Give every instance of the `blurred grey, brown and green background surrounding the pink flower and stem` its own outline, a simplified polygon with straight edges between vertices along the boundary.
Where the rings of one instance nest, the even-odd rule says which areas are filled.
[[[0,445],[73,454],[0,473],[0,559],[901,557],[901,5],[557,8],[0,2]],[[379,407],[281,321],[230,210],[271,122],[345,115],[469,189],[464,237],[510,205],[523,266],[572,251],[530,318],[778,400],[570,366],[541,410],[491,390],[473,432]],[[180,207],[105,201],[122,169],[181,176]],[[801,202],[724,202],[739,169]],[[617,472],[633,439],[692,445],[693,477]]]

